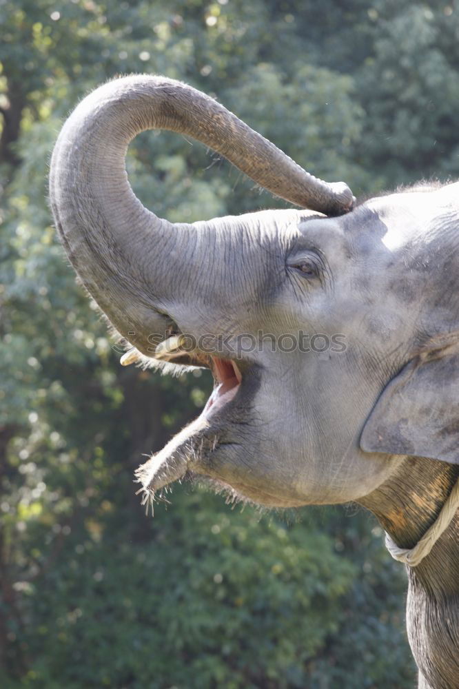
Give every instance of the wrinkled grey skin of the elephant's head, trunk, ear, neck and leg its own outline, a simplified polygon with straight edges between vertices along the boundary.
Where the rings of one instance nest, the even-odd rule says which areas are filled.
[[[157,218],[124,168],[129,141],[149,128],[194,136],[310,210]],[[212,99],[160,77],[112,81],[80,103],[52,156],[50,199],[83,284],[150,364],[212,365],[200,352],[160,364],[152,342],[215,333],[229,336],[222,356],[243,375],[234,399],[141,467],[145,490],[186,473],[266,506],[354,500],[398,545],[416,544],[459,469],[458,194],[418,187],[350,210],[345,185],[312,178]],[[342,333],[346,349],[231,350],[259,330]],[[456,517],[409,568],[425,689],[459,686],[458,535]]]

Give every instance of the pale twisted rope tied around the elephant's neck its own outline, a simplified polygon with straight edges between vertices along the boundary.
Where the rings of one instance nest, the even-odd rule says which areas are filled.
[[[386,532],[386,548],[389,553],[399,562],[405,562],[410,567],[416,567],[420,561],[429,555],[433,545],[442,535],[443,531],[449,526],[456,510],[459,507],[459,479],[454,484],[449,493],[445,504],[442,506],[440,514],[430,526],[422,538],[416,543],[414,548],[399,548],[396,542]]]

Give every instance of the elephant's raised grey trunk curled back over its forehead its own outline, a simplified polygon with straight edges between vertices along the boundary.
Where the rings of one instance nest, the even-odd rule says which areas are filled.
[[[163,315],[172,285],[167,258],[171,263],[178,249],[190,269],[197,234],[201,241],[212,223],[172,225],[134,196],[125,152],[147,129],[196,138],[256,183],[300,206],[338,214],[351,207],[353,197],[342,183],[327,185],[307,174],[223,106],[178,81],[129,76],[92,92],[65,123],[54,148],[52,212],[85,287],[116,329],[151,353],[148,338],[163,336],[170,325]]]

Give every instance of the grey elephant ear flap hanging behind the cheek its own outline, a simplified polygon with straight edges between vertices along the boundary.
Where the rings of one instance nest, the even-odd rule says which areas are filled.
[[[459,353],[409,362],[376,402],[360,447],[459,464]]]

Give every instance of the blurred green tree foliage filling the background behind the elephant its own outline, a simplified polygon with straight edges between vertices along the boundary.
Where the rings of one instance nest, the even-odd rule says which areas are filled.
[[[372,194],[457,176],[451,1],[1,0],[0,686],[408,688],[402,568],[344,508],[230,511],[132,472],[196,415],[203,374],[121,369],[46,202],[65,114],[128,72],[218,96],[298,163]],[[128,169],[170,220],[282,202],[145,133]]]

